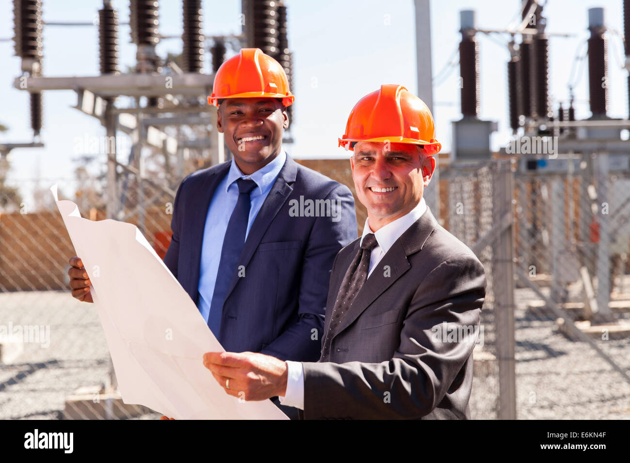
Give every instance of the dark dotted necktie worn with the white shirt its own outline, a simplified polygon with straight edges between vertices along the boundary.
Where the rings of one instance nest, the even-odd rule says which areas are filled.
[[[370,269],[370,254],[372,249],[376,248],[379,243],[376,241],[374,233],[365,235],[361,248],[358,250],[357,255],[353,259],[352,263],[348,267],[346,274],[341,281],[341,287],[337,294],[337,300],[335,301],[335,307],[333,313],[330,316],[330,323],[328,324],[328,331],[326,332],[326,338],[324,338],[324,348],[321,352],[321,361],[326,362],[330,357],[330,345],[333,340],[333,334],[335,329],[341,324],[343,317],[352,306],[357,297],[358,292],[367,280],[367,274]]]

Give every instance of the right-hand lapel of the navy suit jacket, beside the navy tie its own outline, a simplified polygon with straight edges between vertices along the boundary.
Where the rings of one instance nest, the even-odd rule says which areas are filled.
[[[295,163],[295,161],[287,155],[287,160],[285,161],[284,166],[280,169],[280,173],[278,173],[278,177],[273,183],[272,189],[265,198],[265,202],[263,202],[258,214],[256,214],[254,223],[251,224],[249,234],[245,240],[245,245],[243,246],[243,251],[241,251],[238,263],[239,266],[243,265],[244,267],[247,267],[251,257],[258,248],[260,240],[263,238],[265,232],[272,223],[272,220],[278,214],[278,211],[282,208],[284,203],[287,201],[287,198],[289,198],[289,195],[293,191],[292,184],[294,183],[296,176],[297,163]],[[238,272],[234,272],[230,285],[227,289],[226,300],[232,290],[234,290],[234,287],[236,287],[238,280]]]

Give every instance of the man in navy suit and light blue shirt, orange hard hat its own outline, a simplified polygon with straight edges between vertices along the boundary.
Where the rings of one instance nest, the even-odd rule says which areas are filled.
[[[294,96],[272,57],[241,50],[213,89],[234,157],[181,182],[164,263],[227,351],[317,360],[329,272],[357,237],[352,193],[282,149]],[[91,302],[83,263],[70,263],[72,295]]]

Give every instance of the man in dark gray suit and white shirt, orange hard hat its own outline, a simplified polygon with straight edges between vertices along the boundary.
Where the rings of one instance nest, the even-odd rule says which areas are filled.
[[[319,362],[206,353],[227,394],[280,396],[303,418],[467,419],[483,265],[423,199],[440,144],[427,106],[384,85],[360,100],[339,140],[368,211],[337,254]]]

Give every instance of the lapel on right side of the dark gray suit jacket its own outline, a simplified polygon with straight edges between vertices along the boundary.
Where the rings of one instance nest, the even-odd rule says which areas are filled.
[[[392,247],[389,248],[389,251],[382,257],[381,261],[379,261],[374,272],[372,272],[358,292],[350,309],[346,312],[346,316],[341,320],[341,324],[331,336],[336,336],[341,333],[341,331],[348,328],[377,297],[385,292],[387,288],[411,268],[407,256],[423,248],[436,226],[437,220],[435,220],[435,217],[433,217],[433,214],[431,214],[431,211],[427,207],[425,214],[422,214],[420,219],[416,220],[416,222],[396,240]],[[348,265],[350,265],[350,263],[348,263]],[[385,272],[386,266],[389,266],[389,273]],[[346,270],[344,270],[344,275],[346,271],[347,266]],[[343,275],[341,278],[343,278]],[[332,307],[329,307],[329,309],[332,312]],[[326,333],[326,331],[324,331],[324,333]]]

